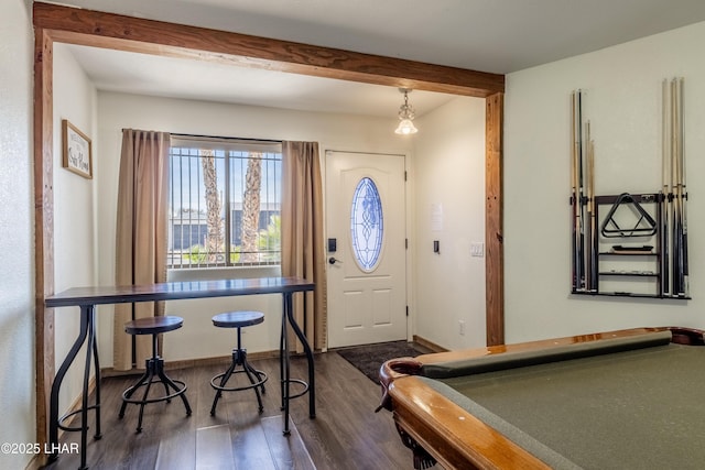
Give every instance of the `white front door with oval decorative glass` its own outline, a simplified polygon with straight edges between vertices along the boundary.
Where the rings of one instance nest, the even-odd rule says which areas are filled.
[[[326,153],[328,346],[406,339],[404,156]]]

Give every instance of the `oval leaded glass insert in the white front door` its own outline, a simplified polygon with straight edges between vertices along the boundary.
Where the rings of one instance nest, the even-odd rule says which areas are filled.
[[[368,177],[360,179],[352,195],[350,236],[357,264],[362,271],[372,271],[382,251],[384,218],[377,185]]]

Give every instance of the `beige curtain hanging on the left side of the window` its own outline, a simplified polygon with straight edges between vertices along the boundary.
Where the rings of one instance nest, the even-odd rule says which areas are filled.
[[[164,132],[122,131],[116,284],[139,285],[166,281],[166,211],[170,136]],[[115,307],[113,368],[144,367],[151,356],[151,337],[132,337],[124,324],[135,318],[164,315],[163,303],[118,304]],[[134,351],[134,356],[133,356]]]

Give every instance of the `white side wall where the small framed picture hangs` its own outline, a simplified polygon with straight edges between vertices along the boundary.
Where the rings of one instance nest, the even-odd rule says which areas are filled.
[[[62,120],[91,139],[94,174],[100,167],[94,131],[96,89],[74,61],[64,44],[54,44],[54,285],[55,292],[70,287],[95,285],[96,239],[95,195],[100,179],[88,179],[62,167]],[[78,335],[79,308],[57,308],[55,311],[56,370]],[[98,323],[100,318],[98,318]],[[79,358],[85,354],[85,347]],[[83,364],[83,359],[77,360]],[[66,409],[80,396],[83,370],[74,367],[64,379],[59,409]]]

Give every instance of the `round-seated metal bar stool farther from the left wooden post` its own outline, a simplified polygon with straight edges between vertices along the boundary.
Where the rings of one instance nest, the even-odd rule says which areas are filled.
[[[242,348],[242,331],[241,328],[252,325],[259,325],[264,321],[264,314],[261,311],[226,311],[224,314],[213,317],[213,325],[218,328],[237,328],[238,329],[238,345],[232,350],[232,362],[227,371],[214,376],[210,380],[210,386],[216,390],[216,396],[213,400],[213,406],[210,407],[210,416],[216,415],[216,405],[218,400],[223,395],[223,392],[239,392],[241,390],[254,390],[257,395],[257,402],[259,403],[259,412],[262,413],[264,407],[262,406],[262,396],[260,390],[264,393],[264,382],[267,382],[267,374],[262,371],[254,369],[247,361],[247,350]],[[240,365],[241,370],[236,370]],[[250,381],[249,385],[242,386],[227,386],[228,381],[232,375],[245,373]]]

